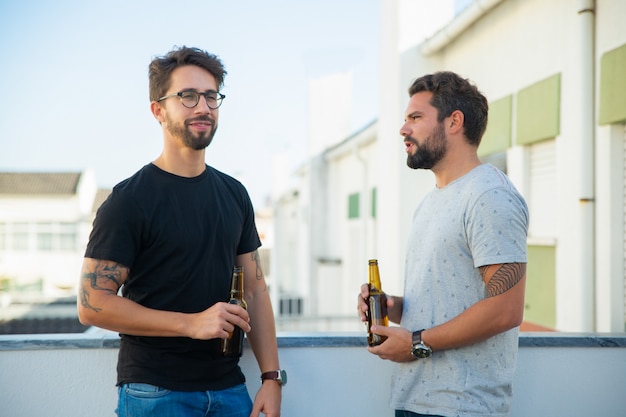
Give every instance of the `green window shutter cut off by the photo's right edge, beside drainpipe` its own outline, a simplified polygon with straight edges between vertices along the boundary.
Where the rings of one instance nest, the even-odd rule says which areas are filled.
[[[602,55],[600,60],[601,125],[626,120],[626,45]]]

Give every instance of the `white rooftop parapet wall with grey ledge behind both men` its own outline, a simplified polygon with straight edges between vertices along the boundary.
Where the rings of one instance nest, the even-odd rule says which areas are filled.
[[[393,364],[361,334],[281,334],[284,417],[393,416]],[[511,417],[625,416],[626,334],[521,333]],[[0,336],[0,415],[110,417],[119,339],[111,333]],[[246,348],[252,396],[259,370]]]

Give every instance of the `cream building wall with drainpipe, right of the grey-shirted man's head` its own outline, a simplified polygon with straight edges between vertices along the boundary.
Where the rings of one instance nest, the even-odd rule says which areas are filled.
[[[476,82],[492,103],[513,97],[508,173],[530,205],[529,246],[552,247],[555,256],[554,276],[547,262],[540,275],[529,276],[528,293],[554,281],[550,308],[559,330],[624,329],[623,127],[598,126],[594,117],[602,54],[626,43],[623,22],[617,27],[623,19],[615,16],[626,16],[626,3],[502,1],[444,48],[427,56],[424,45],[408,51],[401,69],[407,74],[401,81],[411,72],[449,69]],[[525,92],[555,76],[556,131],[523,143],[525,129],[541,121],[522,124],[517,106]],[[611,139],[603,140],[607,134]],[[555,154],[552,185],[533,181],[530,165],[546,145]]]

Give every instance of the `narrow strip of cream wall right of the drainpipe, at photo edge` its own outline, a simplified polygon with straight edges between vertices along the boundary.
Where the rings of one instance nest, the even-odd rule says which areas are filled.
[[[596,96],[601,94],[602,59],[616,48],[626,48],[626,2],[599,0],[596,7]],[[621,88],[626,97],[626,68],[621,69]],[[600,106],[596,107],[599,117]],[[598,331],[626,331],[626,123],[613,122],[595,127],[596,205],[596,328]]]

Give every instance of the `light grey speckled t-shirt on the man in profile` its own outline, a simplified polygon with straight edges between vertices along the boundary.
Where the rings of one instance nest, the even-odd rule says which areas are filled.
[[[483,164],[417,207],[407,244],[402,327],[444,323],[487,297],[478,267],[527,262],[528,208],[510,180]],[[391,406],[443,416],[507,416],[518,329],[397,364]]]

